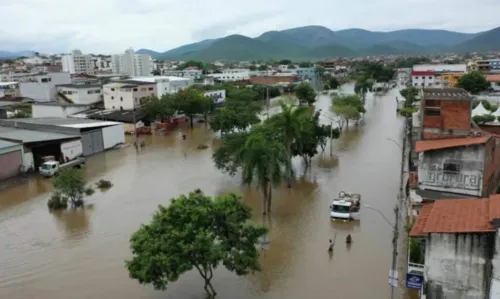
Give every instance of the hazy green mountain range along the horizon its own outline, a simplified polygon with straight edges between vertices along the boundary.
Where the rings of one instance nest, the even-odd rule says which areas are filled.
[[[406,29],[376,32],[364,29],[332,31],[306,26],[268,31],[256,38],[230,35],[187,44],[167,52],[137,53],[168,60],[314,60],[334,57],[416,55],[500,50],[500,27],[479,33]]]

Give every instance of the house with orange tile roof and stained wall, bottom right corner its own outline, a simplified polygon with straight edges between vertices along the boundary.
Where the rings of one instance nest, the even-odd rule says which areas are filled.
[[[499,224],[499,195],[423,206],[409,235],[424,253],[426,298],[500,297]]]

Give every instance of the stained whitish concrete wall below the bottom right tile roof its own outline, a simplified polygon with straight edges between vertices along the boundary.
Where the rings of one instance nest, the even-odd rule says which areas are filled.
[[[430,234],[425,248],[426,298],[488,298],[494,246],[494,233]]]

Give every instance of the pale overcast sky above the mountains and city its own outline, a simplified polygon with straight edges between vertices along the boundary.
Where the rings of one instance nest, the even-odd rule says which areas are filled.
[[[500,26],[499,13],[500,0],[0,0],[0,50],[163,52],[305,25],[478,32]]]

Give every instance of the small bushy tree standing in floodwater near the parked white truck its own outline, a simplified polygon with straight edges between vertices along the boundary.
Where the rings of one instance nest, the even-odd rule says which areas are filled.
[[[61,169],[52,185],[54,194],[48,202],[49,208],[66,208],[68,201],[73,208],[81,207],[84,197],[94,193],[94,189],[87,186],[82,171],[76,168]]]

